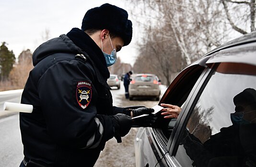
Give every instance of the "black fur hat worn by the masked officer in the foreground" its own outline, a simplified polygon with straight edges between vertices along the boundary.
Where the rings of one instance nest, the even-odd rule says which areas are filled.
[[[105,3],[88,10],[83,17],[81,30],[90,29],[107,29],[120,36],[124,40],[124,46],[131,42],[132,23],[128,20],[128,13],[115,5]]]

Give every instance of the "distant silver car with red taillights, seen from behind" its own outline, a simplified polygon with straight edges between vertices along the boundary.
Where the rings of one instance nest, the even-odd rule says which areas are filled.
[[[160,80],[155,74],[132,74],[130,79],[129,100],[133,100],[134,97],[152,97],[157,101],[159,100],[161,94]]]

